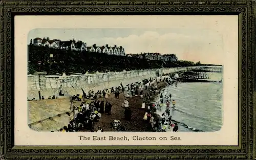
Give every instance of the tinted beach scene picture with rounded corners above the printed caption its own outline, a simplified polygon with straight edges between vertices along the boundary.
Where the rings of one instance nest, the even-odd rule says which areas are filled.
[[[223,45],[221,33],[197,25],[33,29],[27,124],[48,132],[219,131]]]

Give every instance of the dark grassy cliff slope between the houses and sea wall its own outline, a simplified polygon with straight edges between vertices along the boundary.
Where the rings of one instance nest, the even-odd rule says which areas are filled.
[[[53,58],[50,58],[50,54],[53,55]],[[47,72],[48,75],[62,74],[63,72],[70,75],[71,73],[120,72],[196,65],[190,61],[147,60],[87,51],[59,50],[35,45],[28,45],[28,61],[30,74],[40,71]]]

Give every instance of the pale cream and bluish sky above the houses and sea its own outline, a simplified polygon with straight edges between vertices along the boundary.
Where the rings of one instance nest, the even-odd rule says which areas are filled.
[[[225,19],[222,21],[225,26]],[[222,25],[220,24],[222,21],[214,22],[218,26]],[[215,29],[213,26],[202,27],[206,23],[206,19],[202,22],[196,21],[195,24],[190,25],[193,26],[190,28],[187,24],[186,27],[176,25],[169,28],[34,29],[29,32],[28,43],[35,37],[50,37],[62,41],[74,38],[86,42],[88,46],[94,43],[99,46],[122,45],[126,54],[159,52],[176,54],[179,60],[223,64],[225,52],[223,34],[218,27]]]

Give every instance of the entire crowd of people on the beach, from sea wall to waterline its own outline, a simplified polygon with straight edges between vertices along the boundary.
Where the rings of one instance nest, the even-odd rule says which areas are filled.
[[[64,126],[59,131],[66,132],[74,132],[74,131],[82,131],[84,129],[91,131],[103,131],[103,128],[99,127],[98,130],[95,130],[94,125],[95,122],[98,122],[101,118],[102,114],[111,115],[112,104],[106,101],[99,101],[99,98],[109,98],[111,94],[115,95],[115,98],[119,98],[120,93],[124,95],[126,98],[120,107],[124,108],[124,120],[131,121],[132,118],[132,109],[129,107],[128,99],[133,97],[140,97],[144,99],[142,103],[142,108],[146,109],[144,120],[147,123],[150,123],[152,131],[166,131],[168,128],[172,127],[173,131],[178,130],[177,123],[172,122],[172,115],[169,113],[169,104],[170,100],[172,100],[172,95],[165,96],[166,99],[166,110],[163,115],[157,115],[157,110],[161,110],[163,106],[163,95],[161,94],[161,90],[159,89],[159,83],[163,81],[168,85],[173,85],[174,81],[169,78],[150,78],[144,79],[141,82],[135,82],[127,85],[123,85],[120,83],[120,86],[105,88],[102,90],[98,90],[94,93],[93,90],[89,90],[88,94],[84,92],[82,89],[82,95],[77,94],[72,96],[73,101],[81,101],[80,106],[75,107],[77,113],[75,113],[75,118],[70,121],[68,126]],[[151,99],[154,95],[160,94],[160,102],[161,103],[153,103],[152,105],[145,107],[145,100]],[[91,102],[85,102],[90,100]],[[93,101],[94,100],[94,101]],[[175,106],[175,101],[172,101],[173,106]],[[124,130],[120,124],[120,120],[114,120],[110,126],[119,126],[114,127],[117,130]],[[167,127],[169,126],[169,127]],[[104,126],[106,127],[106,126]],[[175,129],[174,129],[175,128]]]

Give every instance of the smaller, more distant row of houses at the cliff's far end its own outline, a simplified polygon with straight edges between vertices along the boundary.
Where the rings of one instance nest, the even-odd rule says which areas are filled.
[[[141,53],[141,54],[127,54],[127,57],[145,58],[149,60],[163,60],[163,61],[178,61],[175,54],[164,54],[160,53]]]

